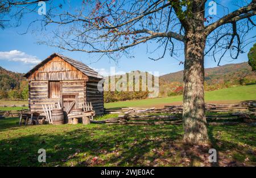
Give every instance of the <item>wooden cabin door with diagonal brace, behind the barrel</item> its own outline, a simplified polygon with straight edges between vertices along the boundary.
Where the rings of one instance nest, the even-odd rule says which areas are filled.
[[[78,94],[63,94],[61,103],[63,104],[63,111],[68,115],[72,109],[78,108]]]

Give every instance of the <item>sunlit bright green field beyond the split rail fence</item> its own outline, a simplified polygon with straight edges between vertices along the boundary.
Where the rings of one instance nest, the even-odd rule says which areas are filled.
[[[221,90],[205,92],[206,102],[223,101],[223,103],[256,99],[256,85],[224,88]],[[155,107],[163,106],[182,101],[182,96],[172,96],[168,98],[154,98],[144,100],[118,101],[114,103],[105,103],[105,108],[122,108],[122,107]]]

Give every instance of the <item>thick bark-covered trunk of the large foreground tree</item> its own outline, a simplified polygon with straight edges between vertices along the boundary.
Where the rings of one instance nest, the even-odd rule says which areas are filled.
[[[185,41],[183,124],[184,142],[202,145],[208,141],[204,111],[204,48],[201,32],[187,32]]]

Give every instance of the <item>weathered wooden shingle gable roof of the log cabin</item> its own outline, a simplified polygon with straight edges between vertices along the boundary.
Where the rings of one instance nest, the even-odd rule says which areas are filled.
[[[88,67],[87,65],[85,65],[84,63],[77,61],[77,60],[73,60],[72,58],[63,56],[62,54],[58,54],[58,53],[53,53],[51,56],[47,57],[45,60],[43,60],[42,62],[40,62],[38,65],[36,65],[33,69],[31,69],[30,71],[28,71],[27,74],[24,75],[24,77],[29,77],[32,73],[34,73],[34,71],[36,71],[37,69],[39,69],[39,67],[43,66],[45,63],[47,63],[48,61],[50,61],[53,57],[60,57],[61,59],[63,59],[65,62],[68,62],[70,65],[72,65],[73,67],[75,67],[77,70],[80,70],[83,74],[87,75],[88,77],[93,77],[93,78],[103,78],[100,74],[97,73],[97,71],[93,70],[92,68]]]

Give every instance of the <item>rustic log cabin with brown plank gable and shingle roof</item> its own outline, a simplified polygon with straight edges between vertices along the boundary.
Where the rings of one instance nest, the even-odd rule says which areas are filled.
[[[30,112],[43,113],[42,104],[60,102],[68,114],[72,109],[82,108],[85,102],[91,102],[96,115],[104,113],[104,79],[80,61],[54,53],[24,77],[28,80]]]

